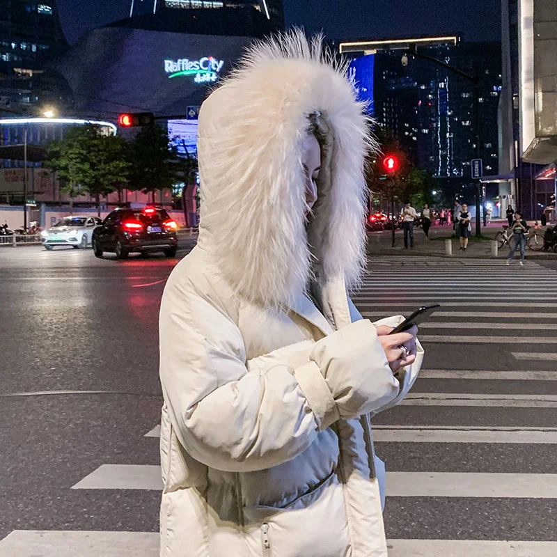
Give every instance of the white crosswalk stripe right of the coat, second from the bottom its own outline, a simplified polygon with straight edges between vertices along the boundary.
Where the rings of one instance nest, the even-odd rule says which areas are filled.
[[[387,472],[387,497],[557,499],[557,474]]]

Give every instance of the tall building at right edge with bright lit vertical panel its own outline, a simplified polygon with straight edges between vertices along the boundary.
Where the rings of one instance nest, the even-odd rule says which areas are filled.
[[[501,0],[501,179],[530,219],[557,220],[557,28],[551,0]]]

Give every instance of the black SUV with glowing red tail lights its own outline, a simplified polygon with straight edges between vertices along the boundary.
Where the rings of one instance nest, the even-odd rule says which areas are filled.
[[[130,251],[163,251],[165,256],[175,257],[177,228],[168,213],[158,207],[116,209],[93,230],[93,251],[97,257],[102,257],[103,251],[113,251],[119,259],[126,258]]]

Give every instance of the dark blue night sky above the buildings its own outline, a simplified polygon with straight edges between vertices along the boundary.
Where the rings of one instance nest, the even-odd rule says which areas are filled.
[[[500,0],[283,1],[287,25],[322,29],[330,39],[457,33],[464,40],[499,40],[501,35]],[[74,43],[84,31],[127,17],[130,0],[58,0],[58,6],[65,35]]]

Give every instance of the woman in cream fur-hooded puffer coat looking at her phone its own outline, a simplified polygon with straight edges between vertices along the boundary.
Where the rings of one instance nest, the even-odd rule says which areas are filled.
[[[347,299],[375,144],[322,48],[256,43],[199,113],[198,244],[159,317],[161,557],[387,557],[370,414],[423,350]]]

